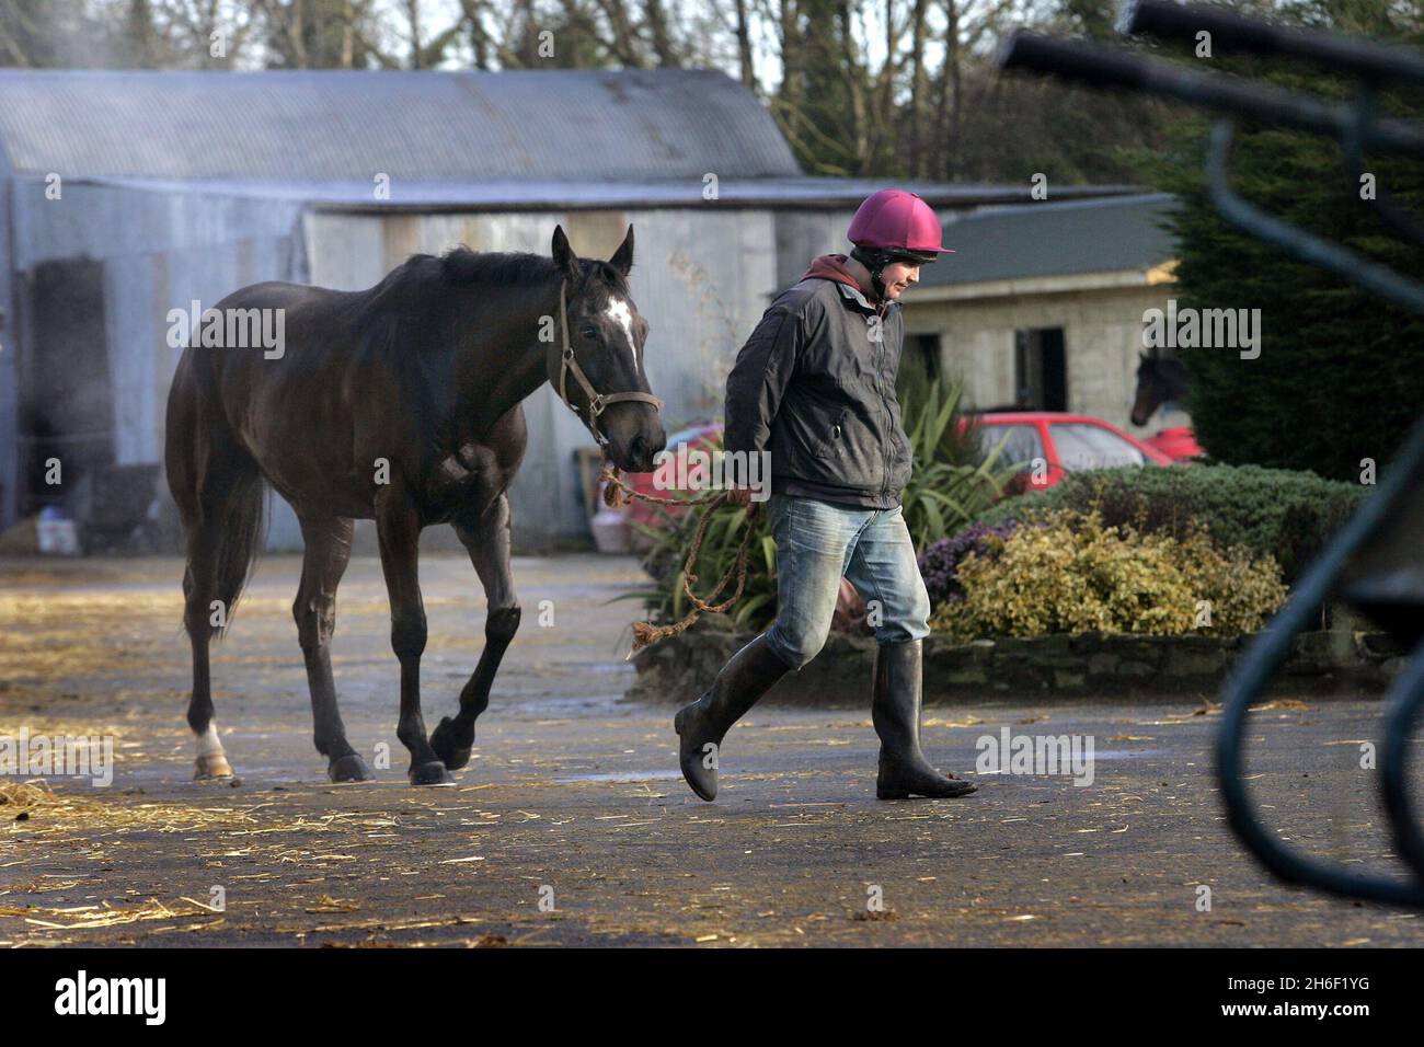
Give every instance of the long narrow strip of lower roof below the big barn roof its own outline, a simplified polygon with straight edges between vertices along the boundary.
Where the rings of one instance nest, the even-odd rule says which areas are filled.
[[[883,179],[870,178],[726,178],[718,181],[715,199],[703,197],[703,182],[696,178],[665,181],[431,181],[400,178],[392,182],[389,198],[376,199],[370,181],[299,181],[245,178],[124,178],[90,177],[71,179],[78,184],[111,185],[161,194],[208,194],[253,199],[303,202],[325,211],[540,211],[578,208],[842,208],[854,209]],[[37,175],[20,178],[43,192]],[[937,208],[973,208],[987,204],[1027,205],[1027,185],[971,185],[947,182],[896,182],[920,194]],[[1068,198],[1138,194],[1129,185],[1072,185],[1058,191]]]

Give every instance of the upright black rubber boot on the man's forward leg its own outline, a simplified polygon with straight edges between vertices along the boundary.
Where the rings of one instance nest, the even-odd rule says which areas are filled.
[[[978,786],[941,775],[920,751],[920,684],[924,648],[918,640],[876,650],[870,718],[880,735],[876,799],[965,796]]]

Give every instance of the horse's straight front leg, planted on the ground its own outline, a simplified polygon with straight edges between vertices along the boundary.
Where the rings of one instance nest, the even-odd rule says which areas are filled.
[[[396,736],[410,751],[412,785],[451,785],[454,778],[426,738],[420,714],[420,655],[426,650],[426,608],[420,600],[420,517],[394,484],[376,501],[380,567],[390,597],[390,647],[400,660],[400,722]]]

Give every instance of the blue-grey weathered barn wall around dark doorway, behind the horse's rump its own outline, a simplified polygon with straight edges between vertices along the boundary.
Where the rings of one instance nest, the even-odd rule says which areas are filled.
[[[46,199],[40,181],[14,185],[17,274],[57,259],[101,265],[115,464],[161,463],[168,386],[181,352],[167,343],[168,311],[188,309],[192,301],[208,308],[262,279],[302,279],[293,245],[300,205],[85,182],[66,182],[60,199]],[[44,366],[46,346],[20,352]],[[161,479],[155,493],[171,514]],[[299,544],[295,516],[281,499],[273,501],[269,544]]]

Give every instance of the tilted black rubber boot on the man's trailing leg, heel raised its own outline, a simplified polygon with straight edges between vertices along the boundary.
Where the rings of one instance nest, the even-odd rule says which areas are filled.
[[[790,668],[766,645],[763,632],[732,655],[701,698],[678,709],[672,726],[678,732],[682,776],[692,792],[705,801],[716,799],[722,738],[787,672]],[[715,748],[709,751],[708,745]]]

